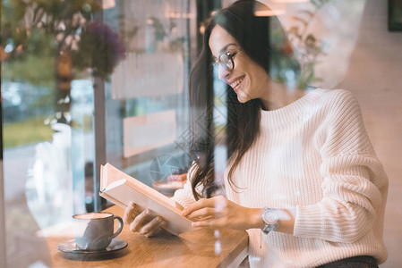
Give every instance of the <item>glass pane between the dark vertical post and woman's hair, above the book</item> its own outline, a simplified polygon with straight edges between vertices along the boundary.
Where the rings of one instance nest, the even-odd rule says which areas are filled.
[[[189,126],[194,19],[186,0],[119,1],[104,13],[125,47],[106,86],[107,162],[150,186],[167,183],[189,165],[181,136]]]

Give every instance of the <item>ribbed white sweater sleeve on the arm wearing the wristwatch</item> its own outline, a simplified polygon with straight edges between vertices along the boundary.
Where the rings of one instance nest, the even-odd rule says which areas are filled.
[[[387,176],[372,149],[355,98],[347,91],[329,102],[321,129],[323,198],[297,205],[295,237],[351,243],[372,229]]]

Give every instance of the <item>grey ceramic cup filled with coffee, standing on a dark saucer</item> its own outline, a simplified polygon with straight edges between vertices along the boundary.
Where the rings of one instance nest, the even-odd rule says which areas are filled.
[[[119,222],[115,230],[115,220]],[[123,220],[110,213],[73,215],[75,243],[83,250],[103,250],[123,230]]]

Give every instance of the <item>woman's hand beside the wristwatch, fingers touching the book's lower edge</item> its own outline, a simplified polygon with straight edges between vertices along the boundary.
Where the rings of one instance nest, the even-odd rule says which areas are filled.
[[[225,197],[200,199],[187,206],[182,215],[193,222],[193,227],[247,230],[264,226],[260,208],[237,205]]]

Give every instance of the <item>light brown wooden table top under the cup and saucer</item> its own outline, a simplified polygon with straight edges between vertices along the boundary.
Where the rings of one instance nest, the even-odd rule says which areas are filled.
[[[118,206],[107,211],[119,216],[124,213]],[[68,259],[57,250],[57,245],[67,239],[73,238],[47,238],[52,267],[237,267],[247,256],[248,246],[245,231],[220,230],[217,234],[213,230],[195,230],[178,237],[167,235],[147,239],[124,225],[118,236],[128,242],[124,250],[102,258]]]

